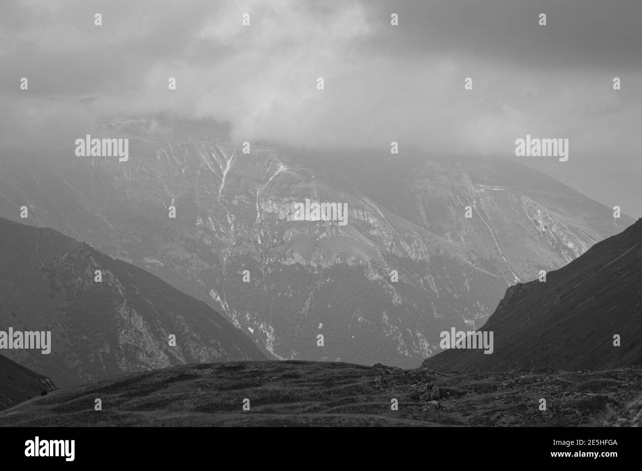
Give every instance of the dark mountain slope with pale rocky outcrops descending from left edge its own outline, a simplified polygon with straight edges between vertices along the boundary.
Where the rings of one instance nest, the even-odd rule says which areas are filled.
[[[0,218],[0,267],[0,330],[51,332],[49,354],[3,354],[60,387],[173,364],[265,359],[203,302],[53,229]]]

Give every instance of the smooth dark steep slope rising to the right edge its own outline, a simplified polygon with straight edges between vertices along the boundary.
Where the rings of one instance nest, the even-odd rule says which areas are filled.
[[[483,330],[494,352],[450,349],[429,369],[488,372],[516,368],[607,370],[642,365],[642,219],[573,262],[507,289]],[[620,336],[616,347],[614,336]]]

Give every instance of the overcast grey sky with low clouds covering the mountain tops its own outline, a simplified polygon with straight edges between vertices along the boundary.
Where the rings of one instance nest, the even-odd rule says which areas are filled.
[[[640,217],[641,69],[641,0],[1,0],[0,139],[171,110],[238,141],[514,158]],[[526,133],[568,162],[515,157]]]

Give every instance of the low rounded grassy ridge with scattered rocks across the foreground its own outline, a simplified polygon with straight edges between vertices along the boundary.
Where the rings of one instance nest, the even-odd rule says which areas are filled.
[[[0,412],[0,426],[620,427],[642,425],[641,393],[641,366],[451,375],[381,364],[209,363],[55,391]]]

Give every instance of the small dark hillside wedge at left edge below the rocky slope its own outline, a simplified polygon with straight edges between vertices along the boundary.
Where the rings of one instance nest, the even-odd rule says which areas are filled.
[[[55,390],[56,385],[48,377],[0,355],[0,411]]]

